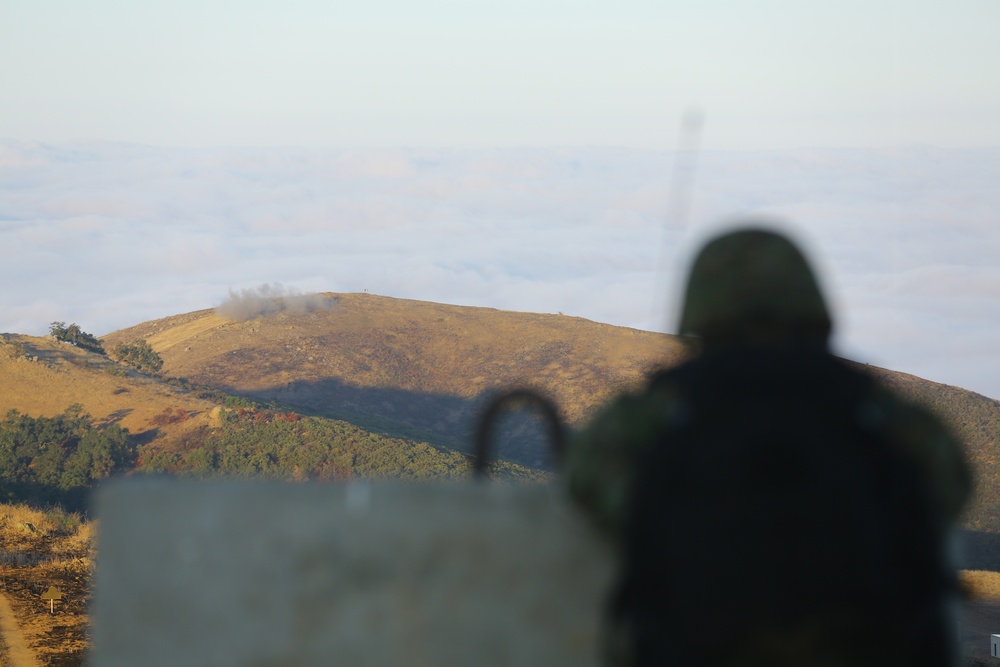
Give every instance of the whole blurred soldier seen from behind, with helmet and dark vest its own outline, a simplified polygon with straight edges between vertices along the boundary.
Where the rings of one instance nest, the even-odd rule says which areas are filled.
[[[951,664],[961,449],[830,331],[790,241],[722,235],[687,284],[697,353],[570,442],[570,492],[621,546],[609,662]]]

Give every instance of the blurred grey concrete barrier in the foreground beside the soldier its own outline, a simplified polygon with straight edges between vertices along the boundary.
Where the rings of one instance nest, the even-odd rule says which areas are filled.
[[[95,667],[598,664],[612,557],[555,484],[125,480]]]

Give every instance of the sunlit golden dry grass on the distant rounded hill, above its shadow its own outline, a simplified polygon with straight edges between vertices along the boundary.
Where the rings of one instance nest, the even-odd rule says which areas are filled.
[[[677,337],[579,317],[363,293],[325,297],[336,305],[244,322],[203,310],[104,341],[143,338],[163,357],[166,374],[311,410],[336,401],[338,383],[465,400],[531,385],[572,423],[683,354]]]

